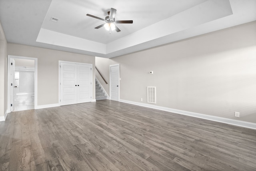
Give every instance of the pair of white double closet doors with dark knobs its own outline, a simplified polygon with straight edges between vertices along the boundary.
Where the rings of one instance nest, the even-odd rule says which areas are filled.
[[[91,65],[60,63],[60,105],[90,102]]]

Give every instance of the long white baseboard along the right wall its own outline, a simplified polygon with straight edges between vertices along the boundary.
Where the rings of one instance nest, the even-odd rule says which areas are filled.
[[[122,99],[120,99],[119,101],[123,102],[123,103],[129,103],[129,104],[133,104],[133,105],[139,105],[139,106],[143,106],[143,107],[149,107],[149,108],[153,108],[153,109],[169,111],[169,112],[172,112],[172,113],[178,113],[178,114],[182,114],[182,115],[198,117],[198,118],[207,119],[207,120],[211,120],[211,121],[227,123],[227,124],[230,124],[230,125],[236,125],[236,126],[246,127],[246,128],[250,128],[250,129],[256,129],[256,123],[238,121],[238,120],[235,120],[235,119],[228,119],[228,118],[224,118],[224,117],[205,115],[205,114],[201,114],[201,113],[195,113],[195,112],[190,112],[190,111],[172,109],[172,108],[168,108],[168,107],[161,107],[161,106],[157,106],[157,105],[150,105],[150,104],[139,103],[139,102],[128,101],[128,100],[122,100]]]

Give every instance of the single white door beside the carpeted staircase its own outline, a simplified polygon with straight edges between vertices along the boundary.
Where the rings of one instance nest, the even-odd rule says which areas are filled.
[[[119,64],[110,66],[110,99],[119,101]]]

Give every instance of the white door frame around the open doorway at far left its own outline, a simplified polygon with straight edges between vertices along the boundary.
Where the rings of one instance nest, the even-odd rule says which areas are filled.
[[[24,59],[24,60],[34,60],[35,62],[35,80],[34,80],[34,109],[37,109],[37,58],[30,58],[24,56],[13,56],[8,55],[7,59],[7,113],[11,112],[11,58],[15,59]]]

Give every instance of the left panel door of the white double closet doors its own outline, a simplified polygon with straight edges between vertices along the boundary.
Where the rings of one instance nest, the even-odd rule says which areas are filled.
[[[60,105],[77,103],[76,64],[60,63]]]

